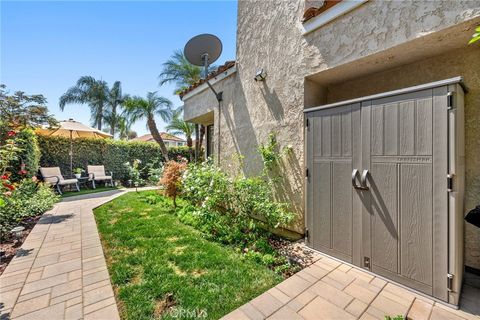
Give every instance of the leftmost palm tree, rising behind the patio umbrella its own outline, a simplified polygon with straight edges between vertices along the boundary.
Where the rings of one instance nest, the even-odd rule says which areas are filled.
[[[108,84],[94,77],[83,76],[60,97],[60,110],[70,103],[87,104],[90,107],[92,124],[102,130],[105,107],[108,101]]]

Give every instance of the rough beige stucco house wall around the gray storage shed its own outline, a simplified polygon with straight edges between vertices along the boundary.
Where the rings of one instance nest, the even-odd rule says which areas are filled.
[[[479,202],[480,115],[479,106],[475,105],[480,80],[469,64],[476,65],[478,70],[478,59],[473,57],[480,53],[478,47],[465,48],[473,27],[480,24],[480,3],[372,0],[307,35],[302,35],[303,10],[304,2],[297,0],[239,1],[237,73],[228,80],[232,82],[230,88],[224,86],[230,93],[222,103],[221,115],[215,111],[221,164],[235,171],[238,165],[232,155],[238,153],[245,157],[244,173],[259,172],[262,164],[257,146],[267,140],[270,132],[276,132],[280,149],[292,147],[292,153],[282,161],[285,179],[279,189],[282,198],[299,213],[292,229],[302,232],[304,107],[343,99],[347,88],[352,94],[363,94],[389,90],[389,85],[408,86],[448,78],[450,74],[463,75],[471,88],[466,114],[466,144],[470,149],[467,206]],[[452,50],[462,50],[463,58],[456,62],[455,53],[449,53]],[[379,86],[368,84],[352,91],[346,84],[341,85],[346,81],[358,85],[365,79],[357,78],[439,55],[443,57],[418,64],[424,70],[420,76],[407,76],[416,70],[412,65],[403,67],[405,75],[398,79],[394,72],[395,81],[383,81],[385,75],[376,75],[372,79],[383,81]],[[452,68],[445,70],[442,61]],[[253,80],[258,68],[267,71],[265,82]],[[205,94],[199,94],[198,100],[205,100]],[[186,108],[195,108],[196,100],[194,96],[186,101]],[[478,232],[469,229],[472,228],[467,229],[467,263],[480,268]]]

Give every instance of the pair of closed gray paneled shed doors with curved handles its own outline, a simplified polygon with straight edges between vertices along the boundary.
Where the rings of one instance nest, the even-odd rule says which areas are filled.
[[[306,113],[308,244],[447,299],[447,87]]]

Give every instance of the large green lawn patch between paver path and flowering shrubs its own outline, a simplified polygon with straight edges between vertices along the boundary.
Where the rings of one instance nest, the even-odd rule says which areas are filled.
[[[218,319],[282,280],[205,240],[172,211],[154,191],[131,192],[95,210],[122,318]]]

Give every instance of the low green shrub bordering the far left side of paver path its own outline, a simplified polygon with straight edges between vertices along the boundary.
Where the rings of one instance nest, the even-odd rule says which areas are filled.
[[[34,179],[23,179],[11,194],[2,194],[0,197],[4,202],[0,206],[1,239],[25,218],[51,209],[59,198],[48,185],[36,183]]]

